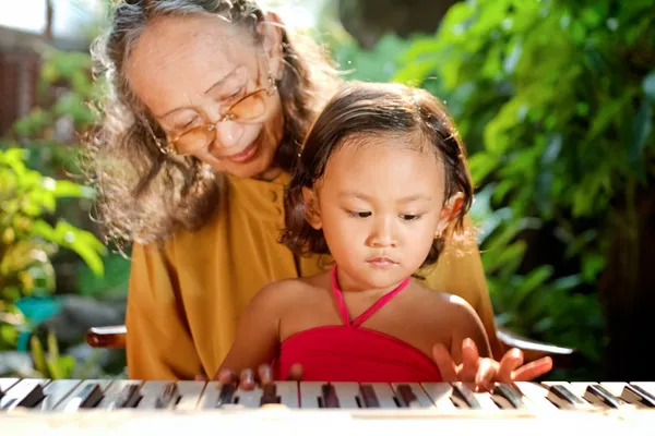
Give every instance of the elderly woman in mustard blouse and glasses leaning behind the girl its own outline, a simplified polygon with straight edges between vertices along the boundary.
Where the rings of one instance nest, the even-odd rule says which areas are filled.
[[[108,240],[132,244],[129,376],[214,374],[259,289],[329,265],[278,238],[300,143],[338,77],[247,0],[121,1],[93,56],[108,90],[86,162]],[[457,249],[424,280],[475,307],[500,359],[479,253]]]

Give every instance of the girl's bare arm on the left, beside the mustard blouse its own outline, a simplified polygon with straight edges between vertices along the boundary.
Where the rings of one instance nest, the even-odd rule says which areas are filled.
[[[274,282],[262,288],[250,301],[239,320],[235,341],[216,372],[228,370],[238,378],[243,370],[271,364],[279,344],[279,319],[285,286]]]

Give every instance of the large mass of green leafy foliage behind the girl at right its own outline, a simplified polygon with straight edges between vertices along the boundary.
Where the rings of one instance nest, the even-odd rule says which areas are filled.
[[[446,100],[458,124],[486,186],[479,222],[495,222],[481,242],[500,320],[594,363],[600,310],[581,290],[596,289],[612,222],[634,234],[635,193],[654,175],[653,10],[653,0],[462,1],[392,78]],[[553,262],[576,271],[521,269],[522,235],[546,227],[567,249]]]

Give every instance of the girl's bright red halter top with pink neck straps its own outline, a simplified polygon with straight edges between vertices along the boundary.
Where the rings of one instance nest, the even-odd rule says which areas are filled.
[[[291,365],[302,365],[306,382],[420,383],[441,382],[434,362],[420,350],[393,336],[361,327],[361,324],[401,292],[409,278],[381,296],[350,322],[332,268],[332,291],[343,325],[320,326],[287,338],[279,349],[276,379],[284,380]]]

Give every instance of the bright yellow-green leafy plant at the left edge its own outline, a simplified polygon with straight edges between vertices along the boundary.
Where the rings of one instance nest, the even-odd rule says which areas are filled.
[[[60,198],[92,198],[94,192],[70,181],[44,177],[25,165],[28,152],[0,149],[0,350],[15,347],[25,319],[15,301],[53,291],[51,256],[60,247],[78,253],[97,275],[104,274],[105,246],[92,233],[47,218]]]

